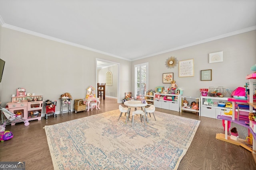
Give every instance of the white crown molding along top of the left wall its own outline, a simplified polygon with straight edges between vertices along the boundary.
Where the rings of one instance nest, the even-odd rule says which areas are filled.
[[[104,51],[100,51],[100,50],[97,50],[97,49],[92,49],[92,48],[90,48],[90,47],[86,47],[86,46],[79,45],[79,44],[76,44],[76,43],[71,43],[71,42],[69,42],[69,41],[64,41],[64,40],[62,40],[62,39],[50,37],[50,36],[48,36],[48,35],[36,33],[36,32],[34,32],[34,31],[30,31],[30,30],[27,30],[27,29],[23,29],[23,28],[20,28],[20,27],[13,26],[13,25],[3,24],[2,27],[9,28],[9,29],[13,29],[13,30],[16,30],[16,31],[20,31],[20,32],[23,32],[23,33],[30,34],[30,35],[35,35],[35,36],[42,37],[42,38],[45,38],[45,39],[50,39],[50,40],[52,40],[52,41],[57,41],[57,42],[59,42],[59,43],[64,43],[64,44],[67,44],[67,45],[72,45],[72,46],[79,47],[79,48],[82,48],[82,49],[94,51],[94,52],[96,52],[96,53],[100,53],[100,54],[104,54],[104,55],[109,55],[109,56],[111,56],[111,57],[116,57],[116,58],[119,58],[119,59],[131,61],[130,59],[126,59],[126,58],[124,58],[124,57],[120,57],[120,56],[117,56],[117,55],[113,55],[113,54],[110,54],[110,53],[106,53],[106,52],[104,52]]]

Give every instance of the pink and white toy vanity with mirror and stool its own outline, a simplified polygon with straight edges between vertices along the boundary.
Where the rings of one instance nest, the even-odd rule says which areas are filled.
[[[87,88],[86,99],[87,99],[87,106],[88,106],[87,111],[89,111],[90,108],[92,111],[94,107],[96,107],[96,109],[100,109],[100,99],[95,97],[95,89],[93,86],[90,86],[89,88]],[[97,106],[97,103],[98,103],[98,106]]]

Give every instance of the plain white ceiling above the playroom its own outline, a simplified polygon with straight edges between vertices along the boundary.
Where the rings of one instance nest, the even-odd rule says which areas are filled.
[[[0,0],[0,24],[134,61],[256,29],[256,0]]]

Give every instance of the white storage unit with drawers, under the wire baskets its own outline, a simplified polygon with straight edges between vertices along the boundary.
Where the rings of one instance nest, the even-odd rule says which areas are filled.
[[[218,115],[224,115],[232,117],[232,115],[225,115],[224,109],[225,107],[218,106],[218,103],[226,103],[228,102],[228,98],[219,98],[219,97],[209,97],[209,96],[201,96],[201,116],[210,117],[217,119]],[[230,109],[227,108],[226,111]]]

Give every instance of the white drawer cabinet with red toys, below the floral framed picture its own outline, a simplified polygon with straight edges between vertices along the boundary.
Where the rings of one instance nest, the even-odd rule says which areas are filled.
[[[179,94],[154,93],[154,106],[161,109],[180,111],[180,96]]]

